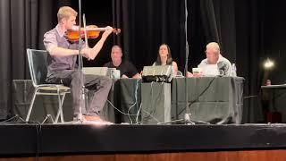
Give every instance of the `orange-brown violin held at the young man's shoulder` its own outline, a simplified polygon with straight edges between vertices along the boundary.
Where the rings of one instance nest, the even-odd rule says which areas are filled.
[[[73,26],[71,30],[67,30],[66,38],[71,42],[79,41],[80,38],[97,38],[101,31],[107,30],[106,28],[98,28],[96,25],[88,25],[84,28],[79,26]],[[86,31],[86,34],[85,34]],[[121,32],[120,29],[114,29],[114,33],[118,35]]]

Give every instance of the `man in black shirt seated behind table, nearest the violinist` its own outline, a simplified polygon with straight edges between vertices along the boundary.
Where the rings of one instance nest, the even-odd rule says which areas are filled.
[[[122,60],[122,48],[119,46],[112,47],[111,50],[112,62],[105,64],[105,67],[116,68],[120,71],[122,78],[141,78],[141,75],[137,72],[137,69],[133,64],[127,60]]]

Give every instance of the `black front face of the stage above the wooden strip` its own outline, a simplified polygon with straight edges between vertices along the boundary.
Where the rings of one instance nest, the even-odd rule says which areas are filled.
[[[0,133],[2,156],[286,148],[286,124],[0,123]]]

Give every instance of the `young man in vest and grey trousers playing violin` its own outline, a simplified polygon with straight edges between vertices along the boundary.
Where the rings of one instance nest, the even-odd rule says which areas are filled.
[[[49,83],[63,83],[63,85],[71,87],[74,120],[103,122],[98,114],[105,105],[112,86],[112,80],[104,76],[83,75],[82,72],[77,70],[78,64],[76,64],[76,61],[79,55],[79,42],[71,43],[65,38],[65,32],[72,30],[76,24],[77,14],[69,6],[61,7],[57,13],[58,24],[55,29],[47,31],[44,35],[44,45],[49,53],[46,81]],[[109,26],[105,29],[95,47],[89,48],[88,45],[83,44],[80,53],[84,57],[91,60],[95,59],[103,47],[105,39],[114,30]],[[97,90],[88,109],[84,107],[84,100],[80,99],[82,97],[80,95],[82,93],[80,82],[84,84],[86,89]],[[80,106],[82,107],[81,113]]]

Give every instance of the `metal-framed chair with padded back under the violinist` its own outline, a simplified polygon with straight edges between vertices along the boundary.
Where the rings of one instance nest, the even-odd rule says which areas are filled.
[[[46,56],[48,53],[45,50],[35,50],[27,49],[28,63],[29,63],[29,73],[33,86],[35,87],[35,92],[32,97],[28,114],[26,117],[26,122],[29,121],[29,116],[33,109],[35,98],[37,95],[57,95],[58,96],[58,110],[55,116],[55,122],[58,122],[59,116],[61,116],[61,122],[63,119],[63,100],[66,93],[70,92],[70,88],[63,86],[63,84],[47,84],[46,83],[46,73],[47,73],[47,62]]]

